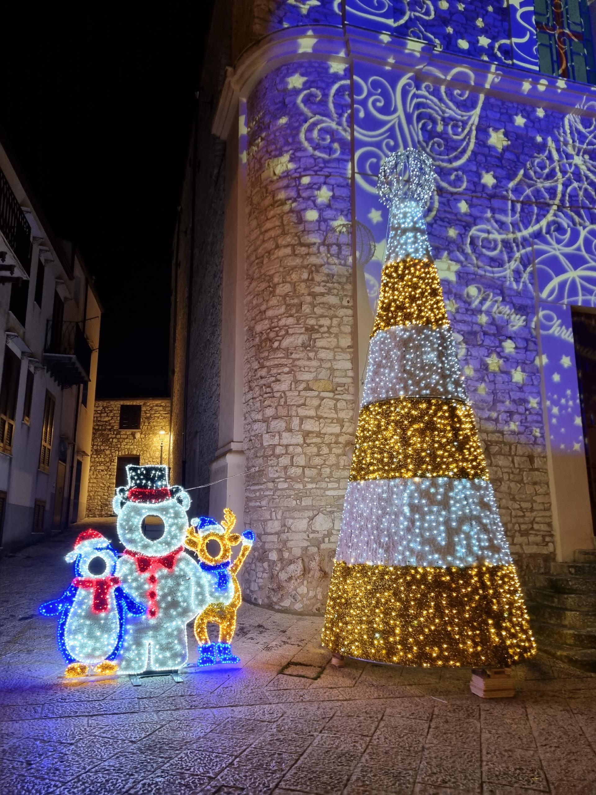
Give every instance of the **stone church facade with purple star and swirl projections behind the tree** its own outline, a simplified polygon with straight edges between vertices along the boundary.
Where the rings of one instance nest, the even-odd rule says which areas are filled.
[[[407,147],[435,165],[432,252],[522,579],[594,549],[596,4],[555,5],[216,4],[173,247],[172,466],[214,483],[197,512],[257,534],[254,602],[323,610],[376,178]]]

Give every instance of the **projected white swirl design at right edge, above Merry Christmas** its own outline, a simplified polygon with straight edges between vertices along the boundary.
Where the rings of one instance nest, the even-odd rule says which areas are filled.
[[[596,110],[596,103],[586,103]],[[489,258],[488,270],[523,289],[532,271],[532,245],[540,296],[548,301],[594,305],[593,272],[596,119],[567,115],[505,188],[503,211],[470,230],[471,254]],[[497,203],[493,203],[497,207]],[[549,278],[549,273],[551,277]]]

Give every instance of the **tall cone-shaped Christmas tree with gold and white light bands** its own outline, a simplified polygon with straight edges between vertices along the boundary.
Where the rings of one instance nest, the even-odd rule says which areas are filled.
[[[379,174],[387,252],[323,644],[400,665],[497,667],[536,646],[428,245],[433,180],[412,149]]]

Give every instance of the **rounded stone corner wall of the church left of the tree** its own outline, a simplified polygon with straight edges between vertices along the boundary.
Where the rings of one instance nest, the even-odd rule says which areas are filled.
[[[248,103],[245,524],[258,543],[242,575],[256,603],[322,611],[354,442],[350,146],[300,141],[305,78],[289,64]],[[335,78],[308,64],[306,103]],[[320,94],[319,94],[320,92]]]

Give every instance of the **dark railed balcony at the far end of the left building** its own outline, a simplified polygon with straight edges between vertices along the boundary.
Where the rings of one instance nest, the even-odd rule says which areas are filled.
[[[89,380],[91,346],[76,320],[48,320],[42,361],[63,390]]]

